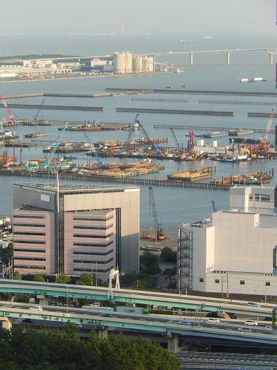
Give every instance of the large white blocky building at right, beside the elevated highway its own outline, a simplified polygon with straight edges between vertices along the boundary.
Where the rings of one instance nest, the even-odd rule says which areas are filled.
[[[181,289],[276,295],[274,188],[232,187],[231,210],[179,229]]]

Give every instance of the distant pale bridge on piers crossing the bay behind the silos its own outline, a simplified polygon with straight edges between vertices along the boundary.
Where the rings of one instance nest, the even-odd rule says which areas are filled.
[[[269,56],[269,65],[274,64],[274,56],[277,55],[276,48],[260,48],[260,49],[217,49],[217,50],[196,50],[196,51],[162,51],[157,53],[145,53],[141,52],[139,54],[134,54],[134,56],[139,55],[148,55],[153,56],[154,58],[157,56],[181,56],[181,55],[188,55],[190,57],[190,65],[194,64],[194,56],[199,54],[216,54],[216,53],[224,53],[226,54],[226,65],[231,65],[231,53],[238,53],[238,52],[257,52],[257,51],[264,51]],[[33,58],[36,60],[43,59],[43,60],[82,60],[82,59],[93,59],[93,58],[103,58],[103,59],[111,59],[111,55],[105,56],[68,56],[68,57],[61,57],[61,58]],[[25,59],[1,59],[0,62],[23,62]]]

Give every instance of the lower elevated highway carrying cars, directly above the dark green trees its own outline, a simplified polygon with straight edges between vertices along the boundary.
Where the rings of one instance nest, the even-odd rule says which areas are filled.
[[[277,346],[277,335],[274,331],[267,331],[262,328],[247,330],[238,325],[204,325],[199,326],[191,321],[190,325],[181,323],[180,319],[171,319],[158,315],[126,314],[123,312],[93,311],[87,308],[49,307],[44,306],[43,310],[24,303],[0,303],[0,317],[43,320],[53,322],[75,323],[91,325],[98,330],[103,337],[108,330],[119,329],[120,331],[134,330],[136,333],[153,333],[162,335],[169,339],[172,345],[184,339],[186,342],[197,340],[213,343],[231,342],[237,346],[265,346],[275,348]],[[186,323],[187,321],[185,321]],[[105,334],[104,334],[105,333]],[[174,351],[177,350],[177,342]]]

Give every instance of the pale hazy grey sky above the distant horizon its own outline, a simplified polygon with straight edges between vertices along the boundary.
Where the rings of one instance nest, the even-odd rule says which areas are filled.
[[[0,33],[276,32],[276,0],[0,0]]]

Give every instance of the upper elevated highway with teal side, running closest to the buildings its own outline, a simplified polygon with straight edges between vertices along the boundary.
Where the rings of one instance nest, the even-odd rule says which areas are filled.
[[[58,296],[68,298],[87,298],[91,301],[109,301],[116,303],[136,303],[145,307],[161,306],[179,310],[202,310],[205,312],[226,312],[254,317],[272,317],[274,305],[249,305],[245,301],[147,292],[131,289],[113,289],[109,294],[106,287],[87,287],[84,285],[63,285],[57,283],[38,283],[24,280],[0,280],[0,292],[13,294],[35,294],[38,296]]]

